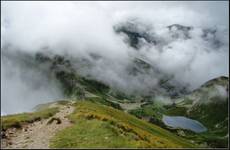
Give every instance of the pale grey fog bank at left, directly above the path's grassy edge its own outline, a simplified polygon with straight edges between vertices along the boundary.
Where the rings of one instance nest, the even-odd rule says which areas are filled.
[[[14,56],[15,55],[15,56]],[[23,61],[20,53],[2,53],[1,59],[1,112],[3,114],[32,111],[38,104],[63,98],[60,86],[34,65]],[[28,58],[26,58],[28,59]]]

